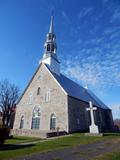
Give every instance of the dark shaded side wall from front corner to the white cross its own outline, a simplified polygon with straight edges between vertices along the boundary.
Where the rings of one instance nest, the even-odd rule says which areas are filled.
[[[68,96],[69,132],[89,129],[90,117],[86,111],[88,104]]]

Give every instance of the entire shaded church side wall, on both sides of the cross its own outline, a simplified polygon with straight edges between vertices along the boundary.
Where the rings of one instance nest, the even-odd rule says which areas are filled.
[[[88,103],[68,97],[69,132],[89,130],[91,118],[90,112],[86,111],[87,107],[89,107]],[[97,107],[97,110],[94,111],[94,118],[100,132],[109,131],[113,128],[113,119],[110,110]]]

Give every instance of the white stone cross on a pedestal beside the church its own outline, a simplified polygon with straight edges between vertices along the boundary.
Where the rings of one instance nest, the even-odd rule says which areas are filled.
[[[89,101],[89,106],[90,106],[90,107],[87,108],[86,110],[87,110],[87,111],[90,111],[90,117],[91,117],[91,125],[89,126],[90,133],[91,133],[91,134],[99,134],[99,129],[98,129],[98,126],[95,125],[94,114],[93,114],[93,111],[94,111],[94,110],[97,110],[97,108],[96,108],[96,107],[93,107],[91,101]]]

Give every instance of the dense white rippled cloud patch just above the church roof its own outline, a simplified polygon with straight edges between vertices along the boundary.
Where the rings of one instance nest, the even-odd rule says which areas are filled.
[[[72,59],[69,63],[72,65],[67,66],[65,74],[83,85],[87,84],[94,88],[120,86],[118,63],[110,63],[110,59],[100,62],[97,56],[89,56],[82,60]]]

